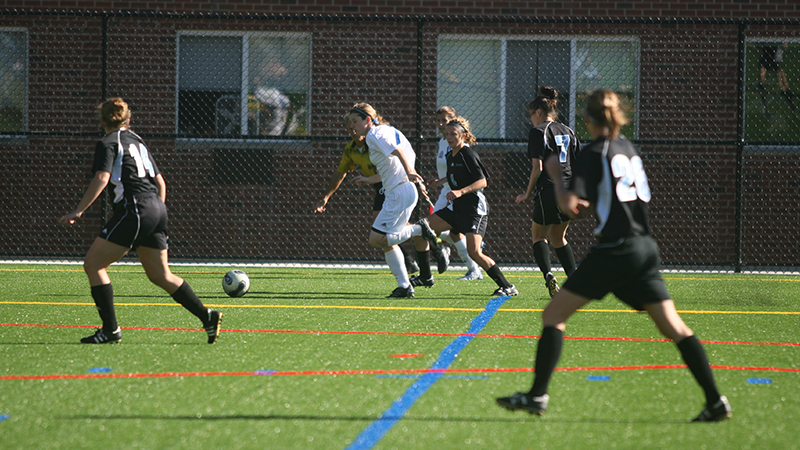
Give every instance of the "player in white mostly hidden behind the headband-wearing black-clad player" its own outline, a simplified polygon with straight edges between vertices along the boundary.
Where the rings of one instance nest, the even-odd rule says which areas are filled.
[[[450,106],[442,106],[436,111],[436,127],[439,133],[444,136],[447,122],[458,117],[458,113]],[[428,186],[438,186],[441,188],[439,197],[433,207],[434,211],[438,211],[447,206],[447,193],[450,192],[450,183],[447,182],[447,152],[450,151],[450,146],[444,138],[439,139],[439,145],[436,152],[436,173],[438,178],[429,181]],[[453,245],[458,252],[458,256],[467,265],[467,273],[460,277],[459,280],[472,281],[482,280],[483,274],[481,273],[481,266],[478,265],[472,258],[469,257],[467,251],[467,239],[463,234],[458,234],[447,230],[439,235],[444,242]],[[441,273],[441,272],[440,272]]]

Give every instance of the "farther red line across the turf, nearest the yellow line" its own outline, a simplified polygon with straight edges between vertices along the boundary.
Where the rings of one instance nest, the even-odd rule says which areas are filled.
[[[32,323],[0,323],[0,327],[42,327],[42,328],[97,328],[97,325],[62,325],[62,324],[32,324]],[[137,331],[205,331],[202,328],[172,328],[172,327],[120,327],[123,330]],[[338,334],[338,335],[367,335],[367,336],[423,336],[423,337],[460,337],[471,336],[480,338],[506,338],[506,339],[539,339],[537,335],[526,334],[469,334],[469,333],[423,333],[423,332],[393,332],[393,331],[331,331],[331,330],[241,330],[222,329],[224,333],[286,333],[286,334]],[[670,342],[665,338],[629,338],[621,336],[564,336],[565,340],[575,341],[623,341],[623,342]],[[703,344],[722,345],[785,345],[800,346],[800,342],[750,342],[750,341],[709,341],[701,340]],[[424,356],[424,355],[422,355]]]

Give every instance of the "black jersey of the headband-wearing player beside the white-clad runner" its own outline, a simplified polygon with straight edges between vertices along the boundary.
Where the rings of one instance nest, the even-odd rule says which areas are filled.
[[[478,154],[468,145],[464,145],[456,155],[450,149],[446,157],[447,181],[451,190],[463,189],[489,176]],[[462,195],[448,207],[457,214],[486,215],[489,212],[483,189]]]

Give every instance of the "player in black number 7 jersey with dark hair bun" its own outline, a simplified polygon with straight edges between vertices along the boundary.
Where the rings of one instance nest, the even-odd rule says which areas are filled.
[[[524,194],[517,196],[517,203],[528,199],[536,187],[533,197],[533,220],[531,237],[533,239],[533,259],[542,271],[545,286],[550,297],[558,292],[558,281],[551,272],[550,248],[553,245],[556,256],[567,276],[575,270],[575,256],[567,242],[569,216],[561,212],[556,202],[553,180],[547,176],[542,163],[550,156],[558,156],[564,180],[572,177],[572,161],[581,150],[581,143],[575,132],[558,122],[558,91],[551,86],[541,86],[539,95],[528,102],[528,113],[533,128],[528,136],[528,158],[531,159],[531,178]]]

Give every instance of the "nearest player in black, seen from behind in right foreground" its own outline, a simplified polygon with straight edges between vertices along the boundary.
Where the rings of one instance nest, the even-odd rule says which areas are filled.
[[[706,407],[694,421],[725,420],[731,416],[728,399],[717,391],[705,350],[675,310],[659,273],[658,247],[649,235],[647,219],[650,188],[639,152],[619,136],[627,118],[617,94],[609,90],[592,93],[585,121],[595,140],[576,159],[568,189],[562,182],[558,160],[548,159],[545,168],[556,182],[562,211],[577,217],[588,207],[594,209],[599,222],[595,229],[598,243],[542,313],[533,387],[497,402],[510,410],[543,414],[567,319],[589,301],[612,292],[634,309],[647,311],[659,331],[677,344],[705,393]]]

